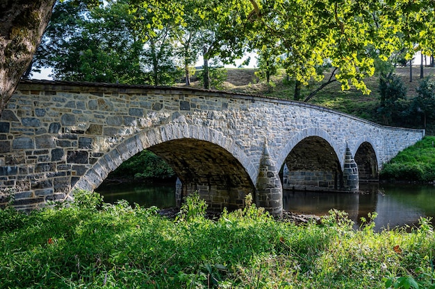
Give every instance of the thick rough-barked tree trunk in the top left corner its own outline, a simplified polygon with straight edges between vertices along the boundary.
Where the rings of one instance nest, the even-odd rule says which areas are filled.
[[[31,63],[55,2],[0,2],[0,116]]]

